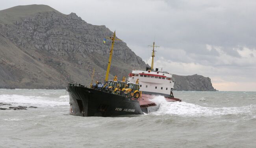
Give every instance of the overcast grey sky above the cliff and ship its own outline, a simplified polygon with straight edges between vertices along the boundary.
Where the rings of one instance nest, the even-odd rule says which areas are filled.
[[[6,0],[0,9],[28,4],[116,30],[148,64],[155,40],[154,67],[210,77],[221,91],[256,91],[255,0]]]

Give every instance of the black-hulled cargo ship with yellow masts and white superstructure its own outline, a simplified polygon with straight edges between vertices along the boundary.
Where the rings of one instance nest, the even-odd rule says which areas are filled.
[[[174,98],[172,75],[154,69],[155,42],[153,42],[151,68],[133,69],[121,81],[115,77],[108,80],[111,58],[116,38],[115,32],[111,39],[108,68],[105,82],[96,82],[87,87],[80,83],[69,82],[70,114],[79,116],[112,117],[120,115],[141,115],[158,110],[160,104],[152,102],[155,95],[163,95],[167,102],[181,101]]]

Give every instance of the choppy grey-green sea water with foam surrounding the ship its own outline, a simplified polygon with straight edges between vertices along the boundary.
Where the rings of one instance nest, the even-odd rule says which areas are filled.
[[[69,115],[65,90],[0,90],[0,148],[256,148],[256,92],[174,91],[127,117]],[[0,106],[8,108],[10,106]]]

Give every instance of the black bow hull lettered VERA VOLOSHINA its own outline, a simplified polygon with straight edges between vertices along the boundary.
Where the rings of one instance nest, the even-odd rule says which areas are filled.
[[[109,117],[143,114],[137,99],[81,86],[68,86],[67,91],[73,115]]]

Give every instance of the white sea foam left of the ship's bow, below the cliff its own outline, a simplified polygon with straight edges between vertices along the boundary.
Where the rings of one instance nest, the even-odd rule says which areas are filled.
[[[24,95],[0,95],[0,102],[10,103],[22,106],[66,106],[69,105],[68,100],[63,98],[48,98],[39,96]]]

